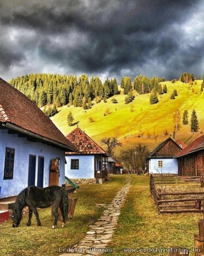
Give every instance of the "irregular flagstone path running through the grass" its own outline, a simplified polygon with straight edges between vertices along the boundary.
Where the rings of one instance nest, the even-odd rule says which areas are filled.
[[[127,177],[125,186],[117,192],[111,204],[98,204],[99,207],[105,208],[100,218],[94,225],[89,226],[90,229],[86,232],[84,239],[79,244],[74,245],[73,253],[63,253],[60,256],[97,256],[104,253],[101,249],[105,249],[112,239],[118,223],[122,203],[125,201],[125,196],[130,188],[130,181],[130,177]]]

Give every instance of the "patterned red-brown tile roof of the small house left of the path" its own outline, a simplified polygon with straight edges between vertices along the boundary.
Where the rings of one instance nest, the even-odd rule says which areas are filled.
[[[80,128],[74,129],[66,138],[75,145],[81,154],[105,154],[103,148],[94,142],[84,131]],[[71,152],[66,152],[66,154],[73,154]],[[79,154],[79,153],[75,153]]]

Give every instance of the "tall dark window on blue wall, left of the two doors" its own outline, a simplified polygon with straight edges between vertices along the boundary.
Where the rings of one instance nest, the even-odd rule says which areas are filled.
[[[14,148],[6,148],[4,179],[12,179],[14,172]]]

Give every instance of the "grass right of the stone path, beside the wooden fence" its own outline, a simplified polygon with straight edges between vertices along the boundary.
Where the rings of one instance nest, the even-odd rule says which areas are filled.
[[[163,248],[181,246],[192,249],[193,236],[198,233],[201,213],[158,214],[149,196],[149,177],[131,175],[132,182],[127,201],[119,216],[119,225],[109,247],[114,255],[124,255],[123,248]],[[181,186],[181,184],[173,184]],[[194,189],[196,185],[193,185]],[[197,186],[199,186],[197,184]],[[119,251],[116,251],[119,249]],[[127,255],[165,255],[167,253],[125,253]],[[107,255],[107,254],[106,254]],[[109,255],[109,254],[108,254]],[[111,255],[111,253],[110,253]],[[193,256],[194,253],[190,253]]]

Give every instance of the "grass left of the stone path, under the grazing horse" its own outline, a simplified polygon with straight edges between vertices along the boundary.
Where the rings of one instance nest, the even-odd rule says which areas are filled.
[[[37,227],[35,216],[30,227],[26,226],[28,215],[24,215],[17,228],[11,227],[11,221],[0,224],[0,255],[1,256],[55,256],[58,247],[70,247],[79,242],[101,215],[103,208],[96,204],[110,203],[116,192],[125,183],[125,175],[114,175],[111,181],[104,184],[81,185],[74,197],[78,198],[74,218],[62,228],[53,230],[51,209],[39,209],[41,227]]]

